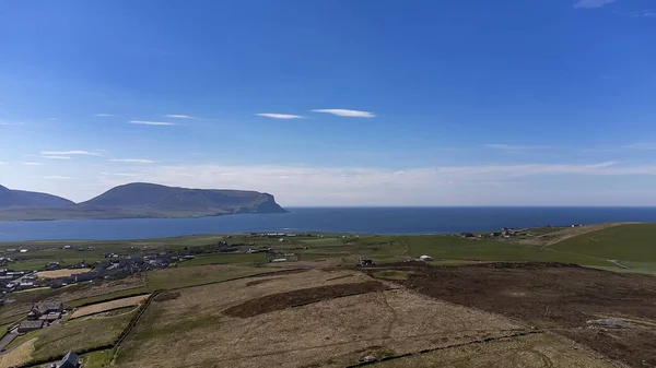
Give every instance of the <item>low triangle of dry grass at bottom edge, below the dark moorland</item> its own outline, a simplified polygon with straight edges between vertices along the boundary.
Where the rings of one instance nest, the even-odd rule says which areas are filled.
[[[613,364],[569,341],[540,333],[440,349],[377,363],[372,368],[613,368]]]

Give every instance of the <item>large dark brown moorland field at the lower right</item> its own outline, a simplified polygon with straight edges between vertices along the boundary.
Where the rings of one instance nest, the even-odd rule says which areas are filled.
[[[656,367],[656,277],[559,263],[412,271],[399,283],[431,297],[552,329],[634,367]],[[587,323],[609,317],[632,325],[613,329]]]

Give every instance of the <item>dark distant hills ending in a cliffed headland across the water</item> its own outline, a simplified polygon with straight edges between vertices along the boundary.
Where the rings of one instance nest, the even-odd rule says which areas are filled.
[[[286,212],[276,203],[273,195],[257,191],[188,189],[134,182],[74,204],[50,194],[0,188],[0,221],[200,217]]]

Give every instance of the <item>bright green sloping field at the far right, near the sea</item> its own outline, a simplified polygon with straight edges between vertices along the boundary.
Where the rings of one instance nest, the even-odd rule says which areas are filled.
[[[560,241],[549,248],[608,260],[656,262],[656,224],[608,227]]]

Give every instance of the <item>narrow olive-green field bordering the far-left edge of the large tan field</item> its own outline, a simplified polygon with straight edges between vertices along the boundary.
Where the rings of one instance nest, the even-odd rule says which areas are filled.
[[[168,268],[148,273],[148,288],[151,292],[188,287],[231,278],[280,271],[277,269],[250,268],[232,264],[209,264],[194,268]]]

